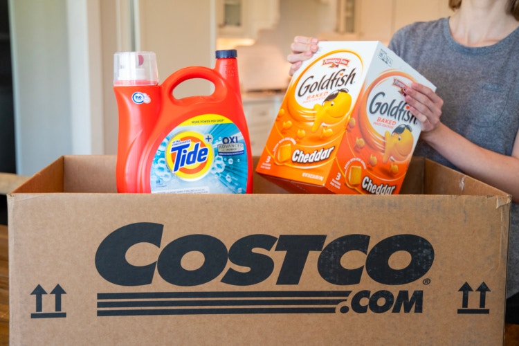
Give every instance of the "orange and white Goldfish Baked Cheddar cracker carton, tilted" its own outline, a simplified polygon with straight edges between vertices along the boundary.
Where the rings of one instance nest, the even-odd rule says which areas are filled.
[[[293,75],[256,171],[297,191],[397,194],[421,131],[406,86],[435,86],[376,41],[320,42]]]

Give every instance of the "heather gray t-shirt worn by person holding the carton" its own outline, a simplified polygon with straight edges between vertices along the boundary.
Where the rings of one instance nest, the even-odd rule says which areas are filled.
[[[480,147],[511,155],[519,130],[519,28],[473,48],[455,42],[442,18],[401,28],[389,48],[437,86],[441,122]],[[426,143],[418,143],[415,155],[457,169]],[[507,297],[518,292],[519,205],[513,203]]]

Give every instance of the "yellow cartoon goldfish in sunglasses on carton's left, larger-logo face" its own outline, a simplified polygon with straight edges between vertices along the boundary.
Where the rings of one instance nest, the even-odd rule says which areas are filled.
[[[315,104],[313,111],[316,111],[316,118],[313,121],[312,132],[325,123],[327,125],[333,125],[344,118],[352,107],[352,96],[349,95],[347,89],[336,90],[329,94],[324,102],[321,104]]]

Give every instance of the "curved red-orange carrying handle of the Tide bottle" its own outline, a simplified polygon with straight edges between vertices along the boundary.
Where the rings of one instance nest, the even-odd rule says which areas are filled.
[[[179,84],[194,78],[208,80],[215,86],[215,91],[213,91],[211,95],[202,97],[209,97],[217,101],[226,99],[228,95],[226,89],[226,80],[224,80],[224,78],[222,78],[217,71],[204,66],[185,67],[172,73],[172,75],[166,78],[162,84],[165,98],[168,98],[171,102],[179,106],[188,106],[192,103],[199,102],[199,98],[201,97],[199,95],[192,95],[180,99],[175,98],[173,95],[174,89],[179,86]]]

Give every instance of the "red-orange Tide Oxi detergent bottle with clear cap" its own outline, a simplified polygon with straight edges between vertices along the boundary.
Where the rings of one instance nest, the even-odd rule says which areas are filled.
[[[237,53],[217,51],[216,58],[215,69],[185,67],[158,84],[154,53],[114,55],[118,192],[252,193]],[[174,97],[176,86],[195,78],[211,82],[214,91]]]

